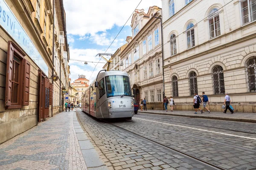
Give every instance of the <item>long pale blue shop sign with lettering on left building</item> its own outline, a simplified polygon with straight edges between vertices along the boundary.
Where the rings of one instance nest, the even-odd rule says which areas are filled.
[[[33,61],[48,75],[48,66],[35,48],[5,0],[0,0],[0,26],[17,42]]]

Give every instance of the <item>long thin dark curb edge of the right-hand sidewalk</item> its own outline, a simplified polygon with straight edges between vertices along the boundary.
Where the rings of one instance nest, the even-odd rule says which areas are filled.
[[[256,123],[255,119],[238,119],[238,118],[212,117],[212,116],[195,116],[195,115],[182,115],[182,114],[172,114],[172,113],[156,113],[156,112],[144,112],[144,111],[138,111],[138,113],[148,113],[148,114],[159,114],[159,115],[169,115],[169,116],[201,118],[201,119],[215,119],[215,120],[227,120],[227,121],[235,121],[235,122]]]

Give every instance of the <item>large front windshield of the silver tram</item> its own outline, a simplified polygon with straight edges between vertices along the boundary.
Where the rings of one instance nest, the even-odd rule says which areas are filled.
[[[121,75],[106,76],[107,97],[129,96],[131,87],[129,77]]]

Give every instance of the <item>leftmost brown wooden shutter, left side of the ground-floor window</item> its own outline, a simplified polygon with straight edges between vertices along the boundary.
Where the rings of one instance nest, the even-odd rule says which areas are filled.
[[[6,65],[6,106],[11,105],[12,98],[12,66],[13,66],[13,51],[14,48],[12,43],[8,42],[8,52],[7,52],[7,65]]]

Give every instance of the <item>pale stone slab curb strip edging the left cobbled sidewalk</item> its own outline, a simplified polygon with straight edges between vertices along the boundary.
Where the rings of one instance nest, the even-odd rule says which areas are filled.
[[[108,167],[99,157],[99,154],[93,147],[93,144],[91,144],[90,140],[84,133],[84,130],[81,128],[76,117],[76,112],[73,113],[73,124],[87,170],[108,170]]]

